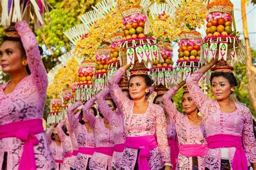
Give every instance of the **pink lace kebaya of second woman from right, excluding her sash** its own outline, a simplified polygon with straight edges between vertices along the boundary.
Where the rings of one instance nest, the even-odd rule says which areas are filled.
[[[203,123],[200,126],[193,126],[189,123],[188,117],[184,114],[181,114],[174,104],[171,101],[171,98],[178,91],[177,87],[171,88],[163,96],[163,102],[165,109],[169,116],[172,118],[173,123],[175,124],[179,145],[205,145],[206,144],[206,134]],[[198,168],[205,169],[203,166],[204,157],[198,158]],[[178,157],[178,169],[192,169],[192,157],[185,157],[179,154]]]

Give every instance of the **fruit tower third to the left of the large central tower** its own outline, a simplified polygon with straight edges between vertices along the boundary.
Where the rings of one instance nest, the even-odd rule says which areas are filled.
[[[92,97],[92,78],[95,73],[95,62],[87,60],[82,62],[78,69],[75,101],[85,102]]]

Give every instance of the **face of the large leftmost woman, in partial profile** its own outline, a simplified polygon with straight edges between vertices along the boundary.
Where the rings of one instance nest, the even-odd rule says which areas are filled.
[[[22,61],[25,55],[22,56],[20,42],[18,41],[4,41],[0,48],[0,65],[4,73],[15,74],[21,72]]]

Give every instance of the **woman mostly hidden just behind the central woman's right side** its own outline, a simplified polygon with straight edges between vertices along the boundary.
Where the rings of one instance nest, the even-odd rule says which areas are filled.
[[[171,162],[173,169],[176,169],[177,161],[178,161],[178,154],[179,154],[179,147],[178,147],[178,139],[177,139],[177,133],[175,129],[175,125],[170,118],[170,116],[167,114],[167,111],[164,107],[163,102],[163,95],[168,91],[168,89],[165,86],[158,86],[155,91],[157,92],[157,96],[154,98],[153,103],[160,105],[164,109],[164,114],[166,118],[167,123],[167,139],[168,144],[170,147],[170,153],[171,153]]]

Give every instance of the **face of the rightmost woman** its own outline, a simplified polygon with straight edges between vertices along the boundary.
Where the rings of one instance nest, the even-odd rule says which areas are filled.
[[[228,98],[231,94],[231,88],[234,87],[230,86],[228,80],[223,76],[212,79],[212,94],[218,101]]]

